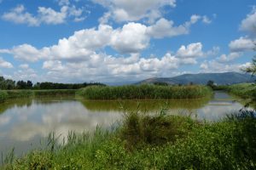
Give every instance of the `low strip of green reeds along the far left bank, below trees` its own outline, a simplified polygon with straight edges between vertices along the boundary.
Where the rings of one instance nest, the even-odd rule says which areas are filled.
[[[73,89],[53,89],[53,90],[0,90],[0,103],[7,99],[20,99],[41,96],[61,96],[75,95],[76,90]]]

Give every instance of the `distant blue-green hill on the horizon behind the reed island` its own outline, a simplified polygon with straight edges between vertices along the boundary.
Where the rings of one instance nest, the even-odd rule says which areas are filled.
[[[154,82],[167,82],[169,84],[207,84],[209,80],[217,83],[218,85],[235,84],[241,82],[254,82],[256,77],[251,77],[248,74],[241,74],[238,72],[224,72],[224,73],[199,73],[199,74],[183,74],[177,77],[154,77],[148,78],[137,84],[154,83]]]

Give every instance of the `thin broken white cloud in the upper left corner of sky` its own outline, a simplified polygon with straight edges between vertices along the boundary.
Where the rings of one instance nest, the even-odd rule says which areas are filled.
[[[61,3],[64,4],[64,3]],[[61,6],[60,11],[53,8],[38,7],[36,15],[26,12],[24,5],[18,5],[15,8],[4,13],[1,18],[16,24],[27,24],[28,26],[57,25],[67,21],[68,18],[74,21],[84,20],[82,16],[83,9],[73,6]]]

